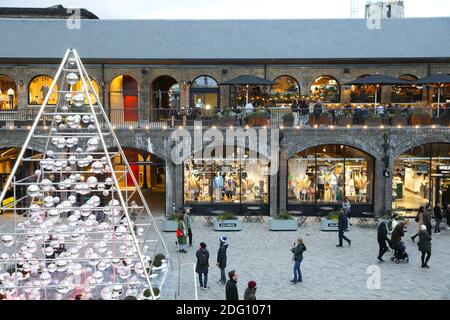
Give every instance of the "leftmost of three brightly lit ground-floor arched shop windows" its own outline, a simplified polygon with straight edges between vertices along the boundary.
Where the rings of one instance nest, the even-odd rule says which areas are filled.
[[[269,165],[242,149],[223,159],[190,157],[184,162],[184,202],[268,204]]]

